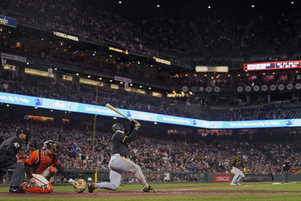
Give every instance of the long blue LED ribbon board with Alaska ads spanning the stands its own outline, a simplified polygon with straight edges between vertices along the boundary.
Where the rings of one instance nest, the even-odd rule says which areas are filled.
[[[54,110],[82,112],[111,117],[121,117],[116,112],[105,106],[95,106],[84,103],[76,103],[64,100],[33,97],[27,95],[10,94],[0,92],[0,102],[22,106],[41,107]],[[201,119],[191,119],[175,117],[150,112],[119,109],[129,118],[145,120],[151,122],[172,123],[183,126],[194,126],[198,128],[270,128],[270,127],[296,127],[301,126],[301,119],[274,119],[274,120],[255,120],[255,121],[205,121]]]

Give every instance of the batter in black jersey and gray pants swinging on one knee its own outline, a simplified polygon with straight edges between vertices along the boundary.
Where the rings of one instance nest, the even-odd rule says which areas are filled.
[[[156,189],[147,184],[140,166],[125,158],[129,151],[127,143],[133,142],[133,140],[136,138],[136,132],[138,131],[139,127],[140,123],[135,119],[132,119],[130,121],[129,132],[125,135],[124,126],[122,124],[116,123],[113,125],[112,130],[114,134],[112,136],[112,156],[108,165],[110,171],[110,183],[88,183],[88,190],[90,193],[93,193],[95,188],[116,191],[119,188],[123,171],[129,171],[135,174],[137,180],[143,186],[143,192],[155,192]]]

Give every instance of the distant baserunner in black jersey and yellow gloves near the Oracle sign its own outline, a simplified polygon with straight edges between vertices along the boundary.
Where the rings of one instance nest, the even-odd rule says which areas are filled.
[[[242,162],[241,158],[241,152],[237,152],[237,157],[234,158],[234,160],[231,162],[231,173],[234,173],[235,176],[232,179],[232,182],[230,183],[230,186],[236,186],[235,183],[237,183],[240,186],[240,181],[245,177],[244,173],[239,169],[240,166],[244,168],[244,172],[246,172],[246,168],[244,167],[244,164]]]

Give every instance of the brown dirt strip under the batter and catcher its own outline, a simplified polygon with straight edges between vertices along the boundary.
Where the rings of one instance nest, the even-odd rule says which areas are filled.
[[[301,193],[301,191],[255,191],[255,190],[204,190],[195,191],[194,189],[217,187],[187,187],[187,188],[162,188],[156,189],[154,193],[144,193],[142,190],[129,191],[94,191],[89,193],[75,193],[71,191],[54,191],[53,193],[25,193],[23,198],[150,198],[150,197],[171,197],[171,196],[217,196],[217,195],[246,195],[246,194],[279,194],[279,193]],[[218,186],[223,187],[223,186]],[[2,198],[20,198],[20,194],[0,193]]]

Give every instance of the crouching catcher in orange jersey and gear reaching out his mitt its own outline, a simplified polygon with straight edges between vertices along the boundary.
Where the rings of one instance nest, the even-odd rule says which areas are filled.
[[[29,154],[25,160],[24,167],[28,182],[22,184],[23,190],[32,193],[52,193],[53,186],[48,180],[55,176],[56,169],[68,180],[72,186],[76,187],[77,192],[82,192],[86,188],[84,180],[71,179],[69,174],[64,171],[58,159],[60,145],[53,140],[44,143],[42,149],[35,150]],[[53,166],[51,166],[53,165]]]

